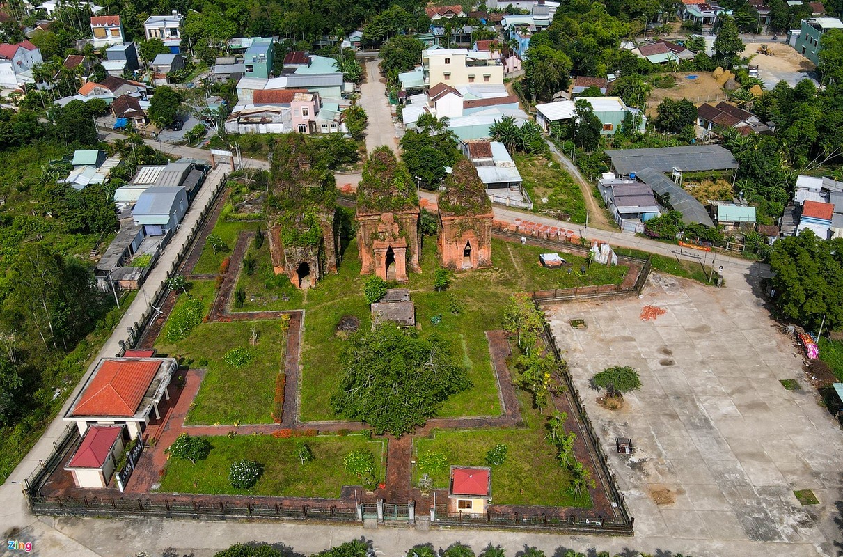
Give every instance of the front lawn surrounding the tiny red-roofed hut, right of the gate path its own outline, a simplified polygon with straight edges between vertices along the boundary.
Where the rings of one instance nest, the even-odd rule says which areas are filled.
[[[413,440],[413,456],[417,460],[427,452],[435,452],[448,458],[448,467],[432,474],[433,487],[448,488],[451,465],[486,466],[486,452],[502,443],[507,446],[507,459],[491,469],[493,503],[591,506],[588,495],[577,498],[568,493],[571,478],[556,459],[556,449],[545,441],[545,416],[532,408],[524,408],[524,404],[522,410],[525,428],[435,430],[429,437]],[[420,475],[414,466],[413,481],[417,482]]]

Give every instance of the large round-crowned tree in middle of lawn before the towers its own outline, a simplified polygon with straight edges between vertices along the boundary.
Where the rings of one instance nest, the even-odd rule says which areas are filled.
[[[381,324],[354,335],[341,354],[343,374],[331,405],[362,420],[377,434],[411,433],[436,415],[470,380],[448,344],[437,335]]]

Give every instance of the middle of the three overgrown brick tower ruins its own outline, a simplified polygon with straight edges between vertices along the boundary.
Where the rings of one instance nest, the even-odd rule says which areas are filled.
[[[389,147],[375,149],[363,167],[357,222],[362,275],[406,282],[408,273],[421,270],[416,187]]]

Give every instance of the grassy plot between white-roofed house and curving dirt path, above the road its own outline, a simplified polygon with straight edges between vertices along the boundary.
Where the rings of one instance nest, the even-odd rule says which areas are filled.
[[[578,224],[585,222],[583,190],[559,163],[543,155],[514,153],[513,158],[524,179],[524,190],[533,201],[534,211],[551,209],[568,215],[565,220]],[[547,202],[543,203],[542,198],[547,198]]]

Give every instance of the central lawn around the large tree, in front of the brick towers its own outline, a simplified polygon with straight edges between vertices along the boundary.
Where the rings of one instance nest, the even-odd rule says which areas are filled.
[[[421,250],[422,272],[412,273],[408,284],[416,303],[416,324],[422,331],[429,331],[434,329],[431,318],[443,317],[435,329],[448,340],[454,353],[462,356],[474,383],[472,388],[448,399],[439,415],[500,414],[486,331],[502,327],[503,304],[513,292],[617,284],[626,272],[626,267],[602,265],[592,265],[586,276],[545,269],[539,264],[539,254],[546,251],[492,240],[494,266],[491,269],[455,273],[447,291],[435,292],[432,285],[437,266],[436,240],[425,238]],[[581,257],[569,254],[564,257],[575,270],[585,264]],[[326,276],[307,294],[300,410],[304,421],[337,419],[330,408],[330,395],[341,374],[338,356],[343,341],[336,336],[336,324],[345,315],[355,315],[361,327],[370,326],[369,309],[362,298],[364,278],[360,276],[357,242],[352,241],[343,256],[340,273]],[[451,311],[454,306],[459,307],[460,313]]]

